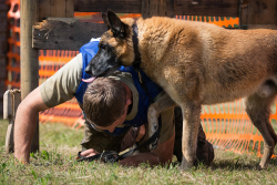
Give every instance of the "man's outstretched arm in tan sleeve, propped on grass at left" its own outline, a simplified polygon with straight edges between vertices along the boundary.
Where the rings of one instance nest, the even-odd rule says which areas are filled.
[[[71,100],[81,80],[82,54],[79,53],[20,103],[14,124],[14,156],[18,160],[29,162],[37,114]]]

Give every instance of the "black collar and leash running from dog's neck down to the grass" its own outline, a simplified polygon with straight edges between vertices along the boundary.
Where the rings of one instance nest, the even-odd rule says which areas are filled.
[[[154,100],[150,95],[150,91],[148,91],[148,89],[147,89],[147,86],[145,84],[145,81],[143,80],[142,74],[141,74],[141,68],[140,68],[141,54],[138,52],[137,25],[133,24],[132,28],[133,28],[133,37],[132,37],[132,39],[133,39],[133,47],[134,47],[134,53],[135,53],[135,61],[134,61],[133,68],[138,74],[141,86],[143,88],[143,90],[147,94],[151,103],[154,103]],[[96,155],[93,155],[93,156],[90,156],[90,157],[82,156],[81,152],[79,152],[78,153],[78,157],[79,157],[78,162],[84,162],[84,161],[92,162],[92,161],[95,161],[95,160],[102,160],[104,163],[119,162],[121,160],[124,160],[124,158],[131,156],[135,151],[137,151],[137,150],[140,150],[140,148],[142,148],[142,147],[144,147],[146,145],[150,145],[151,143],[157,143],[157,140],[160,137],[161,129],[162,129],[162,117],[161,117],[161,115],[158,115],[158,127],[157,127],[156,132],[148,140],[143,142],[141,145],[136,146],[135,148],[130,150],[130,151],[127,151],[127,152],[125,152],[125,153],[123,153],[121,155],[119,155],[115,151],[106,151],[106,152],[103,152],[103,153],[100,153],[100,154],[96,154]],[[155,150],[155,148],[153,148],[153,150]]]

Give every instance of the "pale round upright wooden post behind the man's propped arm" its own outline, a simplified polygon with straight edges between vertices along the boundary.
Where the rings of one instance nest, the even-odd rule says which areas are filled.
[[[32,49],[32,25],[39,21],[38,0],[24,0],[20,4],[20,78],[23,100],[39,85],[39,50]],[[39,151],[39,115],[31,152]]]

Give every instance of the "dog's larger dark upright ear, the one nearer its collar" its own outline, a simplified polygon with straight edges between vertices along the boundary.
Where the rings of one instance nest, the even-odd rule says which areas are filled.
[[[114,35],[124,38],[126,35],[125,25],[112,10],[107,10],[107,19]]]

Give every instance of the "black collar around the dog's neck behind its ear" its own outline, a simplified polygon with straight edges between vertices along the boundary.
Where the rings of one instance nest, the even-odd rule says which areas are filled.
[[[136,23],[132,25],[133,28],[133,37],[132,37],[132,40],[133,40],[133,48],[134,48],[134,53],[135,53],[135,60],[133,62],[133,68],[135,71],[140,71],[141,70],[141,53],[138,51],[138,38],[137,38],[137,25]]]

